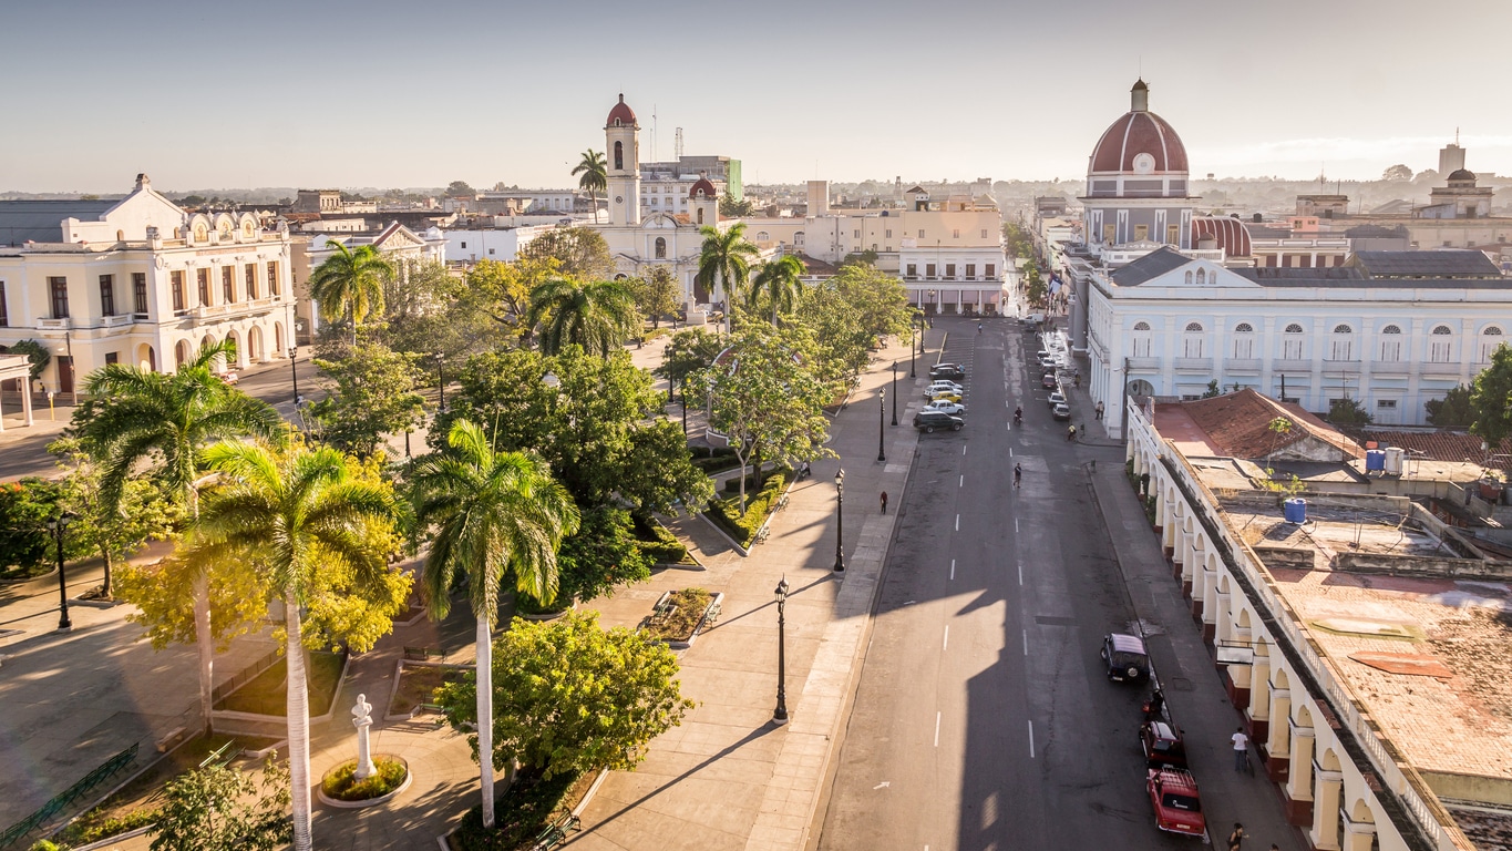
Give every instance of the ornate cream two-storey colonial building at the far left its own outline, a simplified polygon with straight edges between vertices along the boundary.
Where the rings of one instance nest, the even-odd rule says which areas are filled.
[[[36,340],[39,381],[71,393],[107,363],[171,372],[233,340],[233,367],[280,358],[293,319],[289,234],[249,213],[187,213],[153,190],[0,201],[0,345]]]

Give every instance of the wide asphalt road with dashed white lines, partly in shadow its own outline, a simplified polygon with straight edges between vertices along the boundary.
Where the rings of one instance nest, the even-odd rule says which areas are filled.
[[[1099,667],[1132,615],[1081,466],[1122,455],[1066,441],[1036,337],[943,323],[968,425],[919,441],[820,848],[1196,846],[1154,827],[1145,686]]]

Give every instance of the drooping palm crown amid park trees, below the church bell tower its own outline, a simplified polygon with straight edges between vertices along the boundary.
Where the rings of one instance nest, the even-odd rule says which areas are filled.
[[[640,325],[635,293],[620,281],[552,278],[531,290],[525,326],[541,325],[541,351],[555,355],[572,343],[609,357]]]

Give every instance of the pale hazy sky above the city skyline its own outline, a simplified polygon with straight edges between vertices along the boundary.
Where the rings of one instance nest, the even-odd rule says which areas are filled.
[[[1080,177],[1143,70],[1196,175],[1512,172],[1509,0],[0,2],[0,189],[565,186],[624,92],[643,157],[745,181]]]

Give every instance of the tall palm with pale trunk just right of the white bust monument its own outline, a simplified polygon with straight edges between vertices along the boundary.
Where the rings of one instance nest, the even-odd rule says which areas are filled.
[[[520,452],[494,452],[482,429],[452,423],[448,450],[414,470],[414,518],[437,526],[422,585],[432,618],[451,611],[451,590],[467,579],[478,618],[478,766],[482,824],[493,827],[493,624],[499,590],[513,577],[519,593],[540,603],[556,599],[556,547],[578,531],[578,506],[544,463]]]

